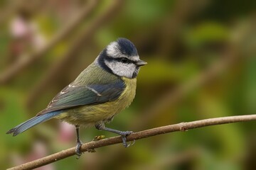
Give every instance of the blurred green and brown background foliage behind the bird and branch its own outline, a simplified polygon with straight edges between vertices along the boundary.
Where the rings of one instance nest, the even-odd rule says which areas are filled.
[[[108,125],[146,130],[256,113],[256,1],[0,1],[0,169],[75,146],[58,120],[6,131],[46,108],[119,37],[148,62],[132,105]],[[256,169],[255,122],[112,145],[41,169]],[[83,142],[95,128],[80,131]]]

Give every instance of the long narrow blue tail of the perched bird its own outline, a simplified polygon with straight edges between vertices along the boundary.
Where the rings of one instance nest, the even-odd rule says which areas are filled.
[[[6,134],[13,133],[14,134],[13,136],[16,136],[16,135],[20,134],[21,132],[24,132],[25,130],[32,128],[33,126],[38,125],[39,123],[43,123],[46,120],[49,120],[49,119],[55,117],[55,115],[58,115],[60,113],[61,113],[61,111],[54,111],[54,112],[46,113],[43,115],[36,115],[35,117],[33,117],[29,120],[26,120],[26,122],[23,122],[23,123],[17,125],[15,128],[12,128],[8,132],[6,132]]]

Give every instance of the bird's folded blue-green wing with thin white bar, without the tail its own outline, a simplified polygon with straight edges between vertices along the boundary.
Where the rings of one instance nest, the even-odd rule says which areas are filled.
[[[85,86],[70,84],[53,98],[45,110],[37,115],[73,108],[75,106],[114,101],[122,94],[124,88],[125,85],[122,79],[118,79],[113,84],[90,84]]]

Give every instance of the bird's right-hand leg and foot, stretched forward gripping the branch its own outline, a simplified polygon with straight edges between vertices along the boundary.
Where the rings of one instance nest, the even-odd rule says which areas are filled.
[[[132,134],[133,133],[132,131],[120,131],[120,130],[114,130],[114,129],[106,128],[104,123],[100,123],[100,124],[95,125],[95,128],[97,130],[106,130],[108,132],[113,132],[113,133],[116,133],[118,135],[121,135],[124,147],[129,147],[130,146],[130,144],[127,144],[126,136]],[[132,145],[134,145],[134,143]]]

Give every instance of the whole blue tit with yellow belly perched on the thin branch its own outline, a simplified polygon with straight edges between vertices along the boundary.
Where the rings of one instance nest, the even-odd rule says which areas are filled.
[[[78,155],[81,154],[82,145],[80,126],[95,126],[98,130],[121,135],[123,145],[127,147],[126,136],[132,131],[106,128],[105,123],[110,123],[114,115],[132,103],[136,92],[136,77],[139,68],[145,64],[139,59],[134,44],[126,38],[119,38],[107,45],[75,81],[50,101],[46,109],[6,133],[16,136],[39,123],[58,118],[75,125],[75,152]]]

